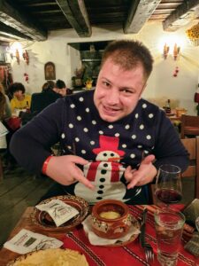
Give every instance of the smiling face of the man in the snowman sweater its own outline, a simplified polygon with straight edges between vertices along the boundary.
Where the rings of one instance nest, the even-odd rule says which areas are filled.
[[[107,59],[96,82],[94,102],[104,121],[118,121],[134,111],[146,85],[143,67],[123,70]]]

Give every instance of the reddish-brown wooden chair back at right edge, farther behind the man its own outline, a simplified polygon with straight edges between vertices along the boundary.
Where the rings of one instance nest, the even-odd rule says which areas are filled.
[[[182,114],[180,137],[186,136],[199,136],[199,116]]]

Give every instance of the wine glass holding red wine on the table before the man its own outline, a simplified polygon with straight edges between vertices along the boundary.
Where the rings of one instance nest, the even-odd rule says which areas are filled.
[[[155,197],[157,204],[160,201],[166,207],[181,200],[181,169],[178,166],[172,164],[160,166],[157,173]]]

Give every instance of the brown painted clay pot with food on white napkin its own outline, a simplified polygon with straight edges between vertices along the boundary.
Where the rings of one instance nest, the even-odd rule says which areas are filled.
[[[119,239],[125,236],[131,224],[129,209],[119,200],[101,200],[92,209],[92,229],[103,239]]]

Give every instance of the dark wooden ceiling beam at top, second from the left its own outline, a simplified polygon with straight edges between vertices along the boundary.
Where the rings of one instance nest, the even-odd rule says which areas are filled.
[[[83,0],[56,0],[56,2],[64,13],[66,20],[80,37],[89,37],[92,34]]]

